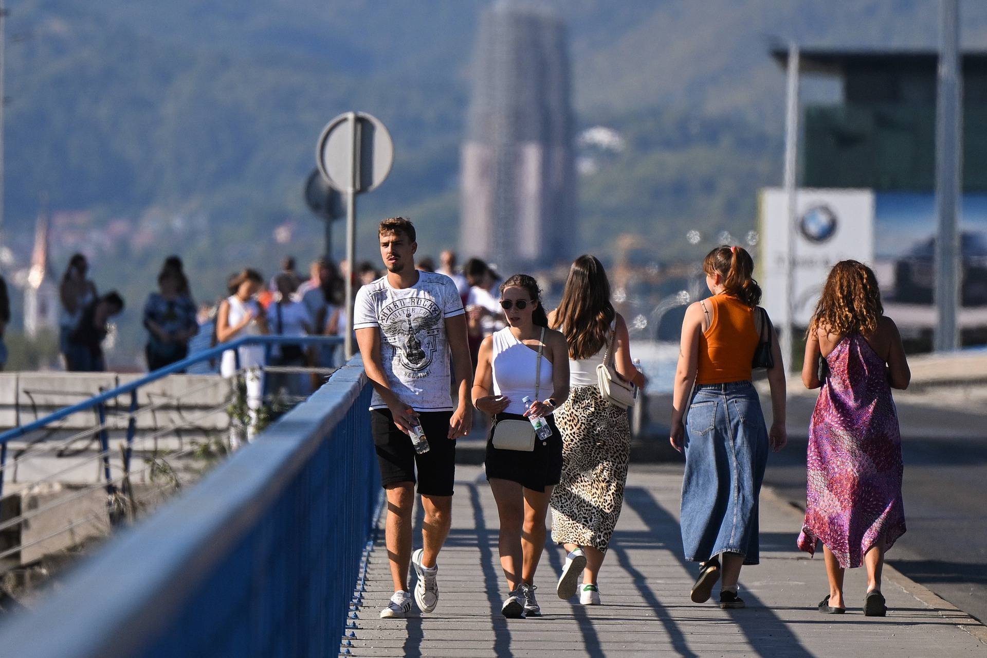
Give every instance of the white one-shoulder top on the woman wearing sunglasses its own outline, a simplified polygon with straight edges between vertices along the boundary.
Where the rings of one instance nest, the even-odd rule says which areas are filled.
[[[552,362],[542,354],[541,385],[535,397],[535,371],[538,353],[514,338],[510,327],[493,334],[493,394],[506,395],[510,404],[504,413],[523,414],[527,411],[521,400],[544,400],[552,394]]]

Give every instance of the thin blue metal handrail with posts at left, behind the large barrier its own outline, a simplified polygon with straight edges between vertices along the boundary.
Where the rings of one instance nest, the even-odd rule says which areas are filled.
[[[0,433],[0,496],[3,496],[3,485],[6,479],[6,469],[7,465],[7,444],[8,442],[19,439],[25,435],[32,432],[44,429],[45,427],[56,423],[60,420],[68,418],[72,414],[76,414],[82,411],[95,410],[97,417],[100,422],[99,439],[103,448],[104,454],[104,472],[107,478],[107,488],[108,492],[112,492],[114,485],[112,484],[113,478],[110,472],[110,453],[109,453],[109,433],[106,429],[106,419],[107,419],[107,406],[109,403],[116,400],[118,397],[123,395],[130,396],[130,420],[127,423],[126,431],[126,450],[124,451],[124,466],[129,466],[130,455],[133,447],[133,439],[136,434],[137,425],[134,421],[134,414],[138,411],[137,406],[137,390],[141,386],[146,386],[149,383],[163,379],[171,374],[177,374],[188,370],[190,366],[202,363],[204,361],[210,361],[212,359],[221,358],[223,353],[227,350],[233,350],[234,355],[236,355],[236,367],[240,370],[240,350],[241,347],[246,347],[248,345],[264,345],[269,348],[273,345],[342,345],[342,338],[338,336],[248,336],[245,338],[240,338],[235,341],[230,341],[228,343],[222,343],[214,348],[204,350],[197,354],[190,356],[188,359],[183,359],[182,361],[176,362],[165,368],[154,370],[148,372],[145,376],[138,379],[134,379],[128,383],[121,386],[117,386],[111,390],[100,393],[99,395],[94,395],[88,400],[79,402],[78,404],[73,404],[71,406],[59,409],[58,411],[45,416],[44,418],[39,418],[37,421],[28,423],[27,425],[22,425],[21,427],[16,427],[6,432]]]

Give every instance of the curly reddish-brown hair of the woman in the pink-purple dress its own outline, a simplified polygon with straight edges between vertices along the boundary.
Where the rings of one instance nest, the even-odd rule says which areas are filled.
[[[808,335],[821,326],[836,336],[869,336],[877,330],[883,314],[873,270],[860,261],[840,261],[829,271]]]

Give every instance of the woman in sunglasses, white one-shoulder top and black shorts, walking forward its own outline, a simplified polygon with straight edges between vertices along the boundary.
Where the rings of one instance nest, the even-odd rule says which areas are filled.
[[[562,473],[562,438],[551,414],[569,396],[569,348],[565,336],[546,328],[540,293],[537,282],[526,275],[500,286],[507,327],[481,344],[473,384],[473,404],[493,415],[486,467],[500,517],[500,566],[509,590],[501,609],[504,617],[541,615],[535,570],[545,548],[552,488]],[[522,402],[525,397],[533,400],[530,406]],[[493,448],[497,423],[524,421],[526,416],[546,418],[552,436],[536,436],[531,452]]]

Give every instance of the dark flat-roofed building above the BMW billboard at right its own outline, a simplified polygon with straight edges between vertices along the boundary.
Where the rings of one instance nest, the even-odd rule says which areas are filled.
[[[788,49],[772,56],[788,64]],[[874,192],[928,192],[936,184],[935,50],[804,47],[803,74],[840,82],[833,103],[802,111],[800,185],[869,188]],[[987,52],[961,59],[963,191],[987,192]]]

